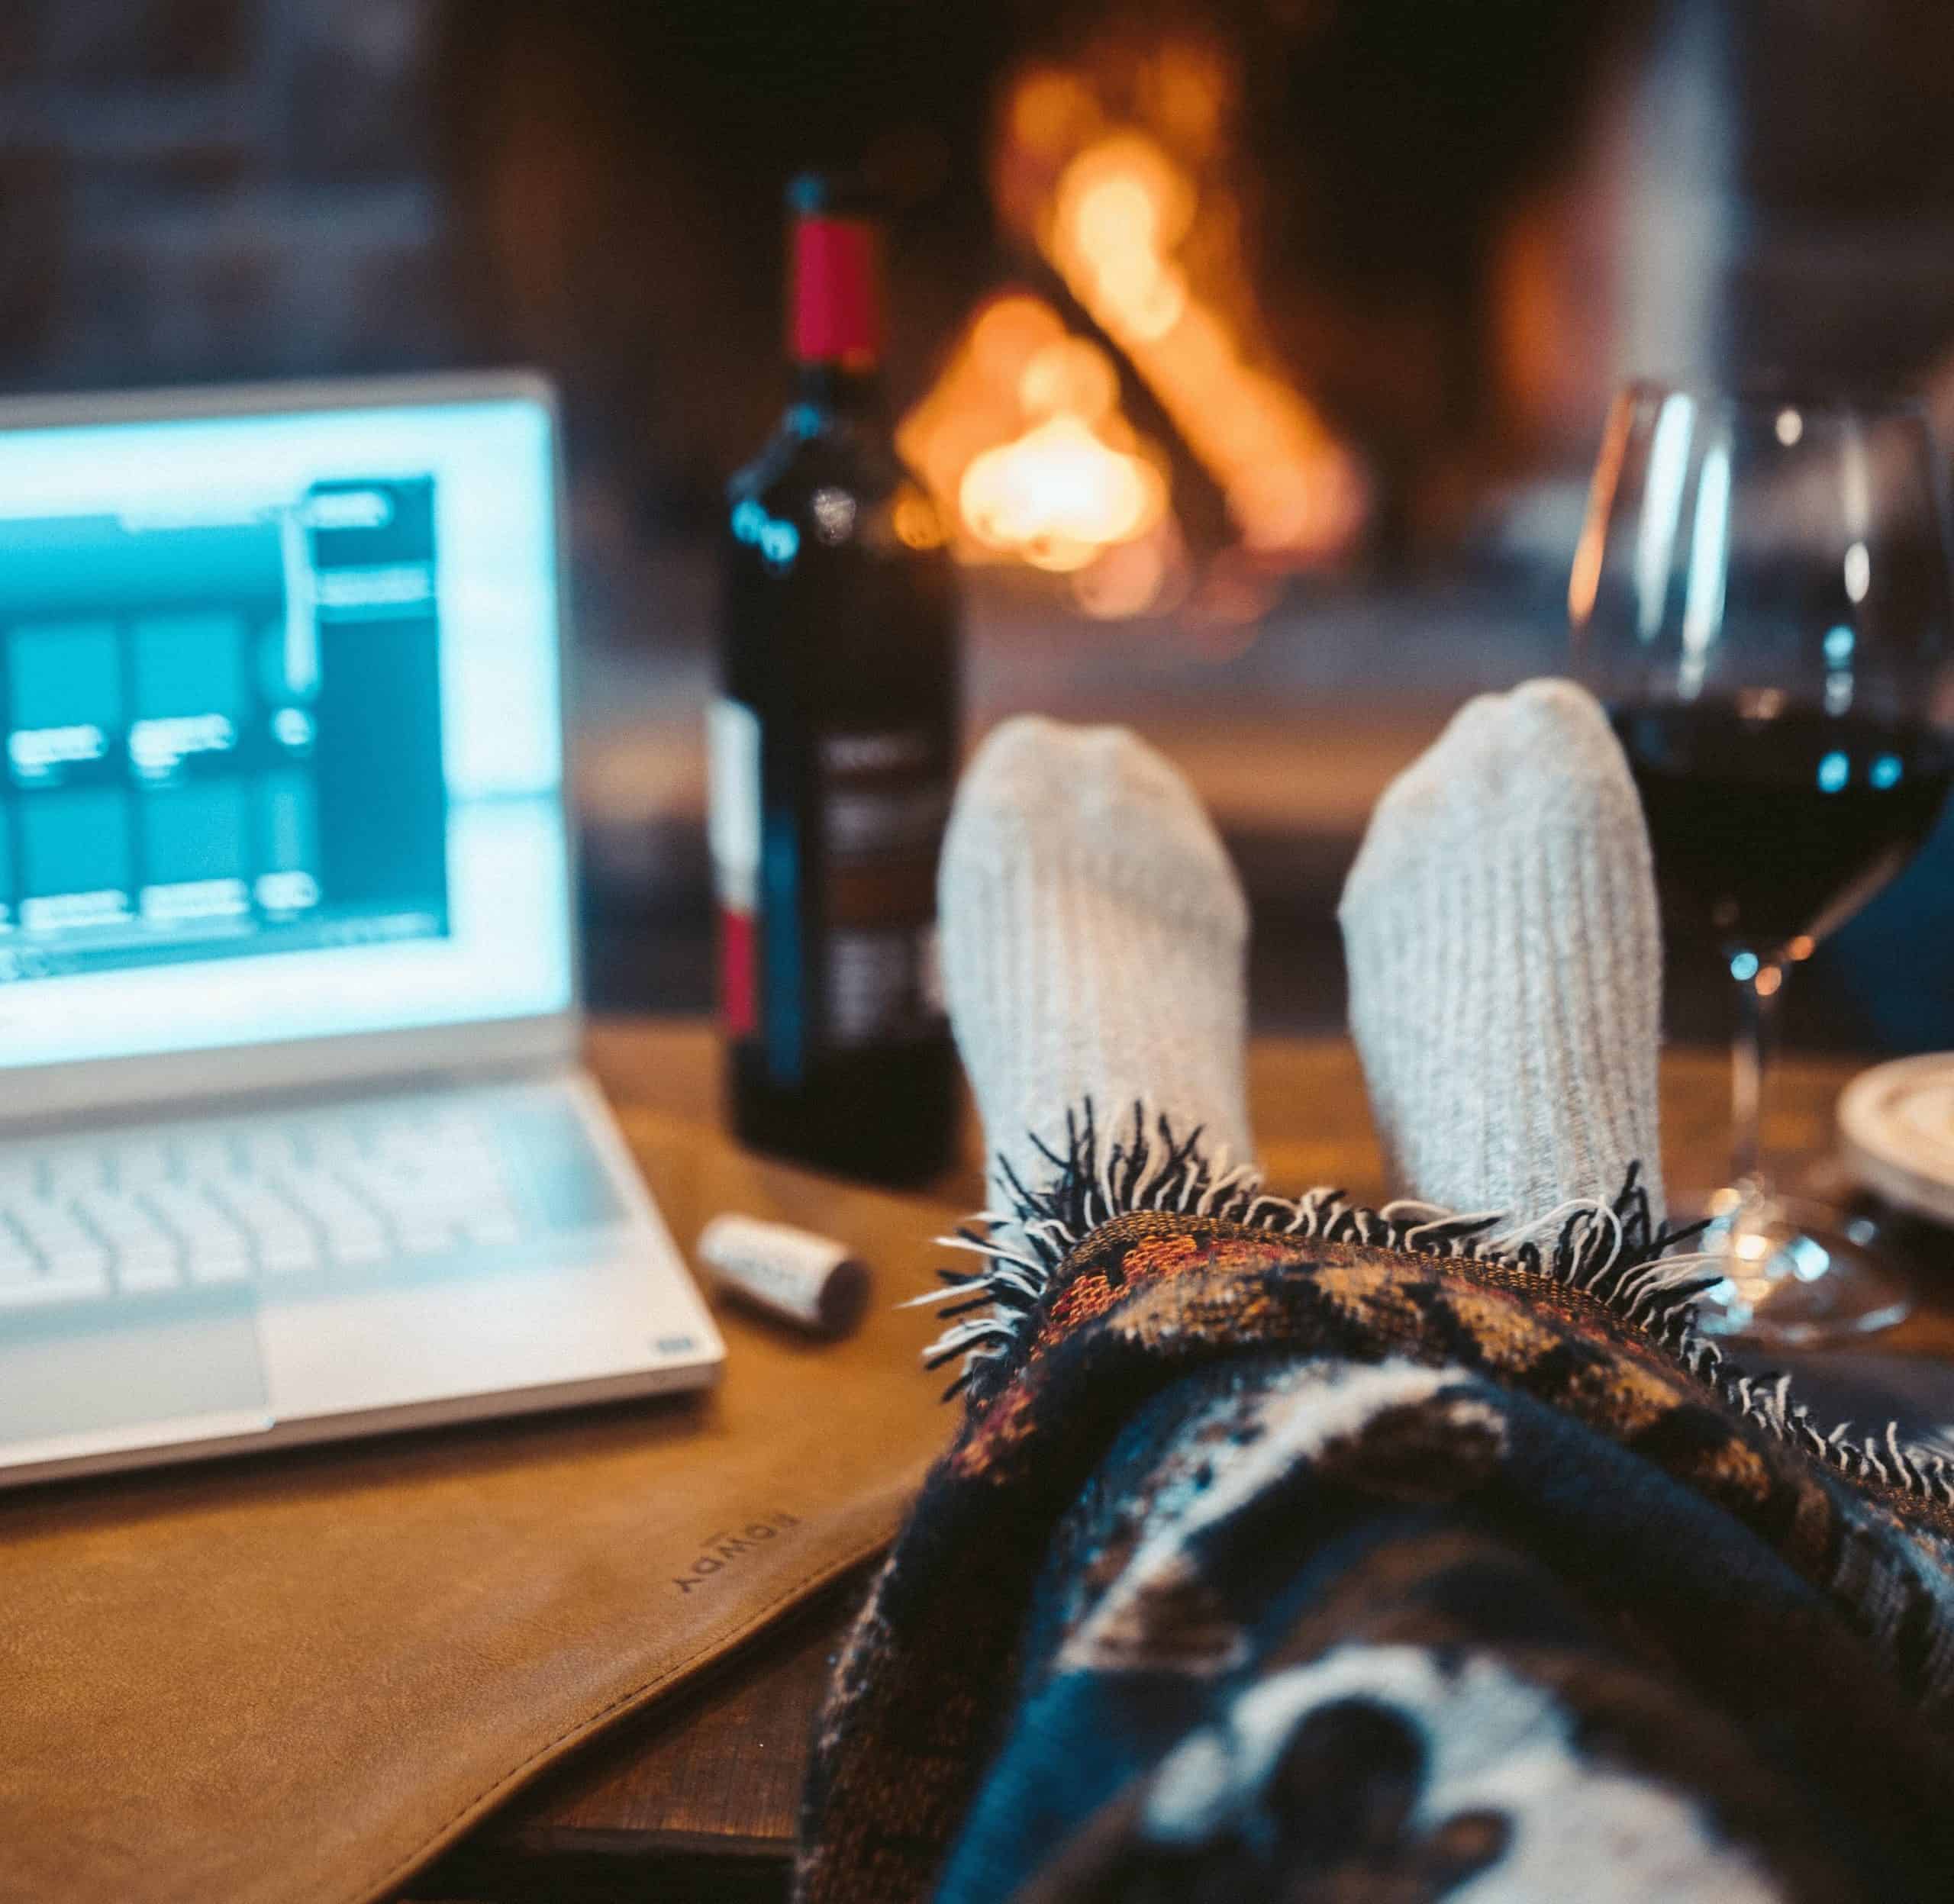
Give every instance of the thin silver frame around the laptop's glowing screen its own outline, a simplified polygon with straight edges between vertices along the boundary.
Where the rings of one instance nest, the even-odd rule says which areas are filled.
[[[201,1045],[190,1051],[61,1064],[0,1066],[0,1129],[82,1113],[174,1105],[256,1092],[346,1086],[432,1072],[477,1074],[561,1064],[582,1043],[582,931],[576,914],[576,832],[573,805],[571,592],[565,564],[567,484],[561,406],[537,371],[438,371],[305,383],[203,385],[166,391],[113,391],[86,396],[0,400],[0,434],[94,424],[178,422],[211,416],[277,416],[319,410],[414,408],[496,400],[543,408],[551,439],[551,566],[557,600],[557,709],[563,777],[557,789],[565,838],[561,906],[569,933],[571,996],[555,1012],[465,1019],[397,1031],[348,1031],[256,1045]]]

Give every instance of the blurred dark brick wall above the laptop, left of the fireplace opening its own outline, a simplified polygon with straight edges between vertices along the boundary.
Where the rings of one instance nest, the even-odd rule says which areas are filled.
[[[440,0],[0,0],[0,387],[453,348]]]

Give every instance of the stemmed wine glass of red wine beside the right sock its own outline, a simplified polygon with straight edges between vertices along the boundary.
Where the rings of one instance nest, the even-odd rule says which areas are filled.
[[[1899,871],[1954,779],[1940,469],[1919,406],[1632,383],[1569,584],[1575,668],[1641,791],[1673,939],[1737,986],[1704,1328],[1809,1344],[1907,1310],[1870,1226],[1759,1166],[1786,973]]]

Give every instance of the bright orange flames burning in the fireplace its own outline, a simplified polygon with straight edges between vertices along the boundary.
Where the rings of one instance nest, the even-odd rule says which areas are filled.
[[[1231,88],[1227,66],[1192,47],[1155,55],[1124,115],[1079,74],[1024,74],[1002,119],[998,201],[1221,490],[1241,551],[1264,570],[1301,568],[1350,545],[1366,486],[1253,344],[1237,207],[1198,182]],[[967,557],[1067,574],[1098,615],[1159,609],[1186,580],[1167,457],[1122,414],[1114,357],[1043,299],[1014,291],[977,312],[903,447]]]

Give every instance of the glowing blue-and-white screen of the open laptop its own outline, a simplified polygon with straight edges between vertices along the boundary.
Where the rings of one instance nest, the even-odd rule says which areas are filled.
[[[530,396],[0,430],[0,1066],[571,1002]]]

